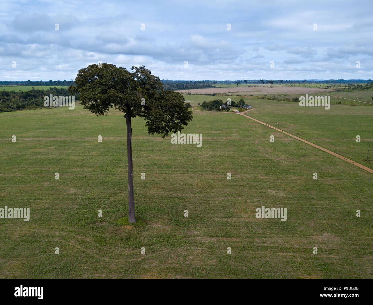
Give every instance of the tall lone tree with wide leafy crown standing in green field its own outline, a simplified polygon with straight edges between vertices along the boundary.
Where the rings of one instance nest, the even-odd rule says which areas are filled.
[[[134,117],[144,117],[148,133],[168,136],[181,131],[192,120],[192,111],[184,107],[184,97],[179,92],[164,91],[159,77],[145,66],[132,67],[132,72],[122,67],[103,63],[102,67],[90,65],[80,69],[69,92],[79,92],[84,109],[106,115],[110,108],[125,113],[127,125],[128,161],[128,221],[136,223],[132,167],[132,126]]]

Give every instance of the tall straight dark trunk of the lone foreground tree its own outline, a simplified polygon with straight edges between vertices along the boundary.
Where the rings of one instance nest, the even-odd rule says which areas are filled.
[[[126,112],[127,123],[127,162],[128,162],[128,221],[129,223],[136,223],[135,218],[135,198],[134,198],[134,180],[132,167],[132,127],[131,114]]]

